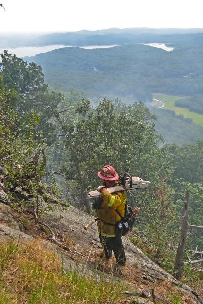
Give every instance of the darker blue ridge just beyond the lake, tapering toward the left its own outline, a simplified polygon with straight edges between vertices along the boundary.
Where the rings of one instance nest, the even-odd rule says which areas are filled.
[[[179,43],[191,41],[194,34],[201,35],[203,29],[107,29],[100,31],[79,31],[43,35],[27,41],[28,45],[41,46],[64,44],[73,46],[108,45],[125,43],[166,42]]]

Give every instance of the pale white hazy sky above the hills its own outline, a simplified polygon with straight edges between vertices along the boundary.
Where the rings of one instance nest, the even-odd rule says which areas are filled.
[[[0,31],[203,28],[202,0],[1,0]]]

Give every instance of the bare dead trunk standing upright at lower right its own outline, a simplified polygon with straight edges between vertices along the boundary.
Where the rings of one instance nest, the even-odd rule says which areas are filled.
[[[185,241],[188,231],[188,207],[189,207],[189,191],[186,191],[186,199],[184,201],[183,212],[182,212],[182,224],[181,224],[181,235],[176,253],[176,261],[174,265],[174,277],[180,279],[183,271],[183,254],[185,249]]]

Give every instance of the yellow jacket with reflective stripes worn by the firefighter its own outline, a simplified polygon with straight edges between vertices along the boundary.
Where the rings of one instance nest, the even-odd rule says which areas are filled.
[[[115,226],[106,223],[115,225],[117,221],[121,220],[121,217],[115,211],[116,209],[124,216],[125,204],[127,202],[125,191],[111,194],[107,189],[104,189],[101,197],[103,199],[101,203],[102,209],[97,209],[96,212],[96,216],[100,218],[97,224],[98,231],[102,236],[115,237]]]

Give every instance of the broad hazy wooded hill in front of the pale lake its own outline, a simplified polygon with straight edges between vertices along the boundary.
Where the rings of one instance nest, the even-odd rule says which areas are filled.
[[[52,87],[64,91],[74,87],[88,97],[129,97],[147,102],[152,92],[203,94],[203,34],[178,36],[172,52],[140,44],[93,50],[71,47],[26,60],[42,65]],[[173,42],[175,36],[167,39]]]

